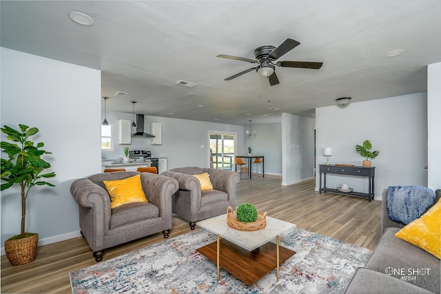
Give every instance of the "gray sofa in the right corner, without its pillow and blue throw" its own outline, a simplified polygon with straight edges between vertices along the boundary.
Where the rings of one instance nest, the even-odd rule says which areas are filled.
[[[438,202],[441,190],[436,190]],[[429,207],[430,208],[430,207]],[[358,268],[345,293],[440,293],[440,260],[395,237],[404,224],[389,218],[387,189],[382,192],[383,235],[364,268]]]

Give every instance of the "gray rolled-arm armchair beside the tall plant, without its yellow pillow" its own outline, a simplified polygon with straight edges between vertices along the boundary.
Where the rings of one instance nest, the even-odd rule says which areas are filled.
[[[141,174],[141,184],[148,202],[125,204],[110,209],[110,196],[103,180],[122,180],[140,174],[117,171],[96,174],[72,182],[70,192],[79,204],[81,234],[97,262],[103,260],[103,249],[163,232],[168,238],[172,228],[171,196],[178,181],[156,174]]]

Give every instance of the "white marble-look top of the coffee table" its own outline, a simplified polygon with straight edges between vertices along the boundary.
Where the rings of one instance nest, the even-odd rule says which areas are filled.
[[[243,249],[247,249],[248,251],[253,251],[276,238],[276,235],[280,235],[296,227],[296,224],[291,224],[291,222],[285,222],[267,216],[267,226],[264,229],[251,232],[238,231],[228,226],[226,213],[207,220],[201,220],[200,222],[197,222],[197,224],[199,227],[212,233],[219,234],[220,237],[225,240],[228,240]]]

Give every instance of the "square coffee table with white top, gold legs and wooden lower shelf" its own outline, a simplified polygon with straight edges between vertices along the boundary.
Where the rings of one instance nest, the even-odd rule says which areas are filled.
[[[279,235],[296,227],[296,224],[267,216],[267,226],[259,231],[238,231],[227,224],[227,214],[202,220],[199,227],[217,235],[216,242],[199,249],[199,253],[216,263],[218,280],[222,267],[239,280],[252,285],[269,271],[277,269],[295,251],[279,246]],[[276,244],[270,242],[276,239]]]

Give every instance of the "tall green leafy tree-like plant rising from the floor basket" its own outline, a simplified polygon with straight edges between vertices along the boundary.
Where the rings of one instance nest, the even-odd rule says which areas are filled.
[[[40,180],[41,178],[52,178],[55,173],[52,171],[47,174],[42,174],[45,169],[50,168],[50,164],[43,160],[43,154],[51,154],[48,151],[42,150],[43,143],[39,142],[35,145],[29,140],[39,132],[37,127],[28,127],[27,125],[19,125],[20,130],[12,129],[4,125],[1,132],[7,135],[10,142],[1,142],[1,151],[8,154],[8,159],[1,158],[1,191],[17,184],[21,187],[21,231],[20,236],[25,238],[25,216],[26,216],[26,198],[28,198],[29,191],[34,186],[48,185],[54,187],[50,182]],[[17,236],[13,238],[17,239]]]

